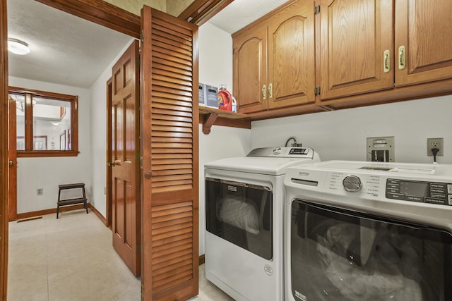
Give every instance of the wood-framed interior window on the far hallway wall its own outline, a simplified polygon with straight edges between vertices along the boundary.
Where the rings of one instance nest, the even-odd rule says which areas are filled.
[[[77,156],[77,97],[9,87],[16,102],[17,156]]]

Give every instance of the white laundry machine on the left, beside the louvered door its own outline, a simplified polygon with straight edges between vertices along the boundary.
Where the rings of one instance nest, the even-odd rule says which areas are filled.
[[[206,278],[235,300],[283,300],[284,174],[315,161],[307,147],[272,147],[205,165]]]

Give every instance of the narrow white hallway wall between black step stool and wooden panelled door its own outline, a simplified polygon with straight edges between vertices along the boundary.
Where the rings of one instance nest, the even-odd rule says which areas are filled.
[[[114,63],[126,51],[133,39],[129,41],[118,56],[110,63],[105,71],[90,88],[90,112],[91,112],[91,168],[90,176],[93,181],[91,204],[104,217],[107,217],[107,199],[105,186],[107,183],[107,80],[112,76]]]

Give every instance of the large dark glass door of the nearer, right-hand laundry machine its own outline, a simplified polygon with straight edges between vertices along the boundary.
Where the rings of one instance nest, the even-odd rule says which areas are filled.
[[[295,200],[291,300],[452,300],[444,230]]]

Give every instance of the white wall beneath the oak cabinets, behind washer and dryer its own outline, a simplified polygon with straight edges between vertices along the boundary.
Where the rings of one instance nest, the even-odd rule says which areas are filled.
[[[444,156],[436,161],[452,164],[451,112],[452,96],[444,96],[255,121],[251,146],[284,145],[295,136],[322,161],[365,161],[367,137],[394,136],[396,162],[432,163],[427,138],[444,137]]]

